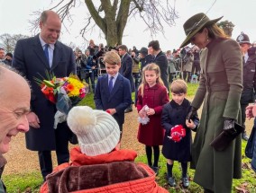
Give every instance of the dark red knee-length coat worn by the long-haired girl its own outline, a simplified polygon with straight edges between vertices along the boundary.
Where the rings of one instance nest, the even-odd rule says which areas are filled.
[[[166,87],[157,83],[150,87],[144,87],[143,97],[141,91],[138,92],[137,110],[142,110],[144,105],[155,110],[155,114],[150,116],[150,122],[146,125],[140,124],[138,140],[144,145],[162,145],[164,129],[161,127],[160,118],[163,105],[169,102],[169,95]]]

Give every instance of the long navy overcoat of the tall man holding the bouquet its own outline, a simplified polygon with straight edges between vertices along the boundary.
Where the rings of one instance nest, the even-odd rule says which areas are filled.
[[[40,128],[30,128],[25,134],[27,148],[33,151],[50,151],[56,149],[55,130],[53,128],[55,104],[46,99],[41,87],[35,83],[34,77],[46,77],[45,71],[54,73],[56,77],[69,76],[76,73],[74,53],[71,48],[57,41],[55,43],[52,66],[50,67],[41,47],[39,35],[17,41],[14,49],[13,66],[30,81],[32,86],[31,109],[40,119]],[[67,138],[69,127],[64,122],[58,130]]]

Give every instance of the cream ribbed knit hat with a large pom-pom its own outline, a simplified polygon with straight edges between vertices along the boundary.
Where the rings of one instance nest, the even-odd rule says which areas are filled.
[[[120,129],[115,119],[103,110],[73,107],[67,118],[69,128],[78,136],[83,154],[108,154],[118,144]]]

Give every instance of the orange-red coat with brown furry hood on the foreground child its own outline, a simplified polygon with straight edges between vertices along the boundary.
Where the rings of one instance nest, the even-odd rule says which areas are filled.
[[[155,182],[155,173],[142,163],[134,163],[133,150],[87,156],[76,147],[71,163],[59,165],[41,187],[41,193],[168,193]]]

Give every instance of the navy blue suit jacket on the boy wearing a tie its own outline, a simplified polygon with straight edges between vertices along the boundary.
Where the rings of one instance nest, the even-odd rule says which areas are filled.
[[[132,104],[131,86],[128,79],[118,75],[112,92],[108,90],[108,76],[98,77],[94,96],[97,110],[115,109],[114,119],[119,125],[124,122],[124,110]]]

